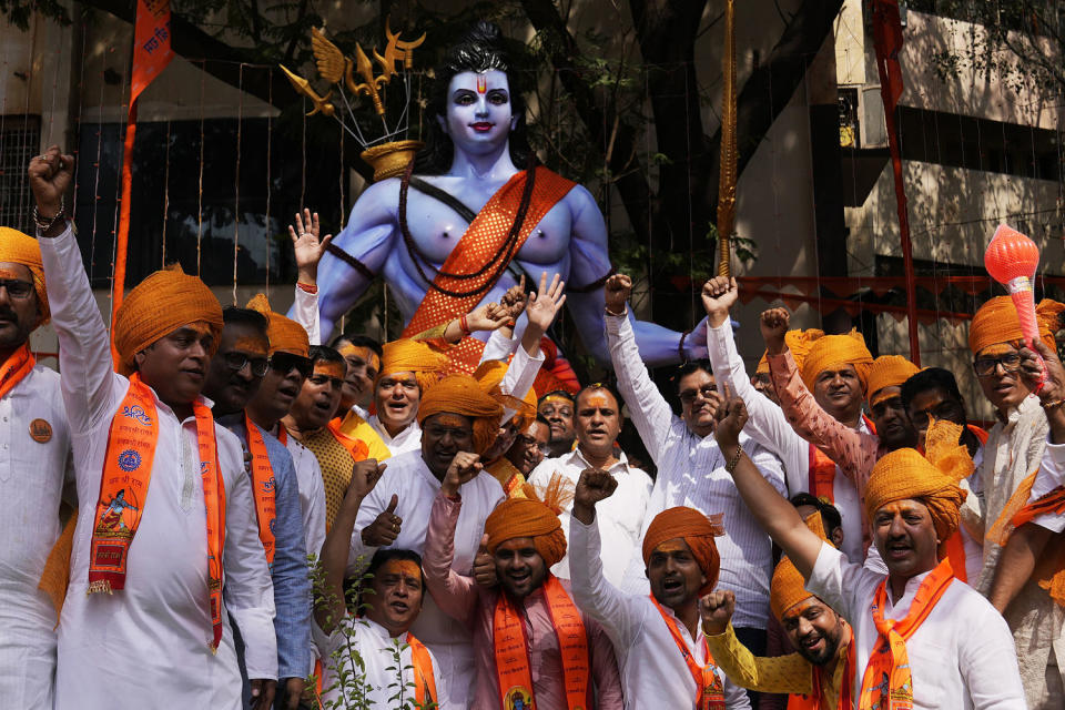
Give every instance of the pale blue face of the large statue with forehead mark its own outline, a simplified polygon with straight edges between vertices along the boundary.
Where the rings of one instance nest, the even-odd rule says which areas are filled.
[[[439,120],[457,150],[477,155],[498,149],[515,122],[507,74],[498,69],[455,74],[447,87],[447,115]]]

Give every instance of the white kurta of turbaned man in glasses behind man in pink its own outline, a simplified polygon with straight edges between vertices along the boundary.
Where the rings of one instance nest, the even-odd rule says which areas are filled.
[[[363,545],[362,530],[388,507],[393,495],[398,497],[396,515],[403,519],[403,525],[396,541],[388,547],[414,550],[418,555],[425,550],[429,511],[433,509],[433,499],[440,489],[440,481],[422,460],[420,452],[394,456],[385,463],[388,468],[358,509],[355,531],[352,535],[349,571],[357,568],[355,562],[359,557],[364,564],[368,564],[377,551],[376,547]],[[460,575],[469,575],[480,546],[480,537],[484,535],[485,520],[504,499],[504,494],[499,481],[486,473],[464,484],[458,493],[463,497],[463,510],[455,526],[455,558],[452,560],[452,569]],[[433,598],[426,595],[422,613],[410,631],[429,647],[439,660],[440,676],[446,686],[442,692],[446,692],[456,706],[465,707],[474,684],[474,647],[469,629],[440,611]]]

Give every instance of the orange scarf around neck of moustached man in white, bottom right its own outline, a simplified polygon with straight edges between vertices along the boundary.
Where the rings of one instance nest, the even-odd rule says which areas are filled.
[[[860,710],[913,708],[913,678],[910,673],[906,640],[921,628],[952,581],[954,581],[954,572],[951,570],[951,562],[944,559],[921,582],[910,605],[910,612],[901,621],[884,619],[888,579],[880,582],[870,609],[880,636],[870,653],[865,674],[862,677]]]

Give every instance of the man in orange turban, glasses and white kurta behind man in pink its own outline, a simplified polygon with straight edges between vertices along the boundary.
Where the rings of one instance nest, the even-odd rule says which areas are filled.
[[[358,571],[381,548],[423,554],[433,500],[448,471],[457,471],[463,499],[452,567],[469,571],[485,520],[504,499],[499,483],[481,475],[480,460],[495,442],[501,418],[503,407],[469,375],[448,375],[425,393],[418,406],[422,450],[389,458],[387,473],[363,501],[352,536],[349,571]],[[447,696],[465,707],[474,681],[469,630],[428,600],[413,630],[439,660]]]

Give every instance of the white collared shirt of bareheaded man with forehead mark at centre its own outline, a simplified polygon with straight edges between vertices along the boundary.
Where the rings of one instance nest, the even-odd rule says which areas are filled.
[[[568,488],[574,490],[577,487],[577,479],[580,478],[580,471],[586,468],[591,468],[591,464],[578,447],[565,456],[540,462],[529,474],[529,483],[544,489],[555,474],[558,474],[568,481]],[[610,540],[609,548],[602,550],[602,571],[611,585],[620,586],[629,560],[639,551],[640,531],[643,528],[653,483],[642,469],[629,466],[625,452],[621,452],[621,457],[607,469],[607,473],[618,481],[618,488],[612,496],[599,504],[596,508],[596,517],[599,518],[599,525]],[[570,500],[558,516],[567,536],[572,509],[574,503]],[[551,567],[551,572],[556,577],[569,579],[569,555]]]

